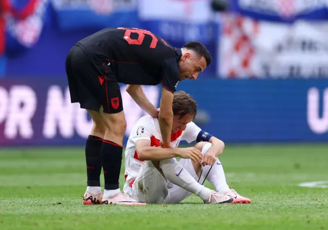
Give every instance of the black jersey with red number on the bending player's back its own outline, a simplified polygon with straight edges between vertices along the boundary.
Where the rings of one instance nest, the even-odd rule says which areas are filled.
[[[97,63],[110,67],[116,74],[117,82],[132,85],[161,84],[175,91],[179,81],[181,50],[150,31],[125,27],[107,28],[76,45],[83,48]]]

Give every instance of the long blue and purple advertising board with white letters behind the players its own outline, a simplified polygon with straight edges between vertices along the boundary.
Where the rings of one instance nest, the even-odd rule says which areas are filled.
[[[2,146],[85,142],[92,121],[70,103],[65,78],[3,79],[0,85]],[[208,113],[209,120],[198,125],[224,142],[328,141],[328,81],[197,80],[182,82],[178,90],[191,93],[199,111]],[[159,87],[145,91],[158,106]],[[127,116],[142,116],[123,98]]]

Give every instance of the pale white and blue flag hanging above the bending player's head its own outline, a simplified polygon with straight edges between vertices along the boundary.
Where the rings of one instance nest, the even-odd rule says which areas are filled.
[[[139,0],[144,28],[168,42],[215,43],[217,23],[210,0]]]

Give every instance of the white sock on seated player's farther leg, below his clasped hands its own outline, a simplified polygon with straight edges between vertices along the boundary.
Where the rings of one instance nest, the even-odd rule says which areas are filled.
[[[203,146],[201,153],[204,155],[211,148],[212,144],[207,143]],[[226,176],[224,175],[223,167],[219,159],[216,160],[215,164],[212,166],[206,165],[203,167],[203,177],[207,176],[207,180],[215,187],[215,190],[219,193],[226,193],[230,188],[226,181]]]

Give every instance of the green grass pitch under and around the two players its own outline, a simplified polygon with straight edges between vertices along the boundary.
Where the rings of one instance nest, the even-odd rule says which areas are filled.
[[[328,145],[228,145],[220,160],[252,204],[84,206],[83,148],[0,149],[0,229],[328,229],[328,188],[298,186],[328,181]]]

